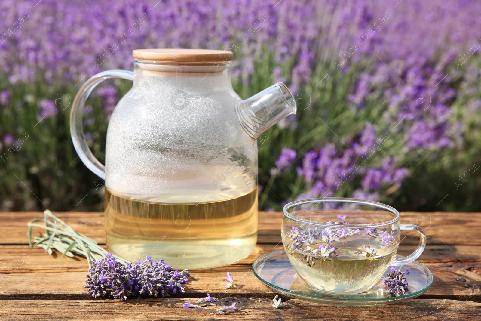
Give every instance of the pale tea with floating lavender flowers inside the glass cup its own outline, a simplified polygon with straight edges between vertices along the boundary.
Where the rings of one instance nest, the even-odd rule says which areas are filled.
[[[398,240],[393,231],[350,229],[346,215],[338,219],[326,223],[339,228],[292,226],[283,231],[283,240],[287,252],[296,258],[291,264],[309,275],[310,286],[348,293],[379,280],[395,256]]]

